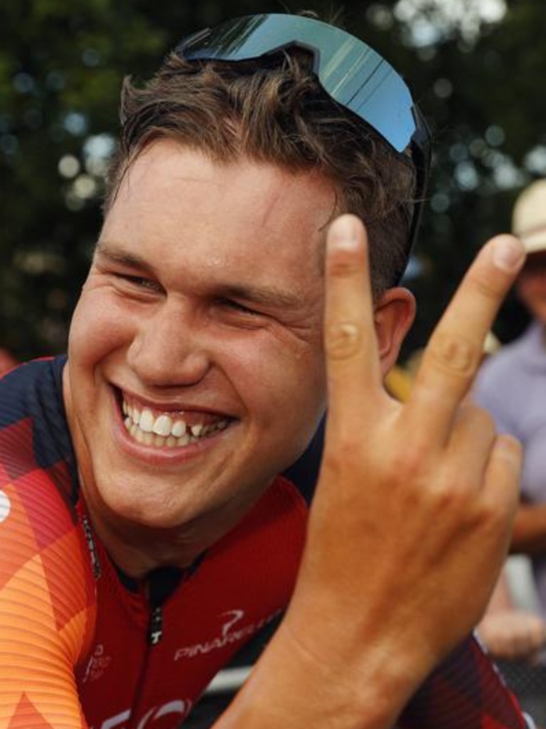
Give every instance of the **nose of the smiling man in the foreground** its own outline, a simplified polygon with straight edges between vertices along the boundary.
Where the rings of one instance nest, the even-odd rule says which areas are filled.
[[[163,303],[143,317],[128,350],[128,364],[149,386],[189,386],[211,367],[205,323],[188,305]]]

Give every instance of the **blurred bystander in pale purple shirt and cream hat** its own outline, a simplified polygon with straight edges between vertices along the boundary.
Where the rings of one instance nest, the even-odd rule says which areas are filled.
[[[515,286],[531,323],[523,335],[484,362],[474,397],[490,411],[500,432],[523,443],[525,453],[511,548],[531,558],[542,620],[529,623],[527,616],[523,623],[514,622],[514,612],[504,609],[504,619],[496,616],[492,639],[487,632],[492,644],[504,644],[512,658],[524,658],[544,643],[546,620],[546,179],[533,182],[520,194],[512,230],[528,252]],[[522,631],[526,641],[518,638]],[[506,654],[504,649],[501,652]]]

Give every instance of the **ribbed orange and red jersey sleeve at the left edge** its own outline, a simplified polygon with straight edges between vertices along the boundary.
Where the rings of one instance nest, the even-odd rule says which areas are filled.
[[[47,475],[23,480],[0,480],[0,729],[87,729],[75,668],[94,607],[81,537]]]

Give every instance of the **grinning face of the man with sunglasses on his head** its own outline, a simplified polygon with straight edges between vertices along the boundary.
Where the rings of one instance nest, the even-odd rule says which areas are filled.
[[[66,403],[88,501],[130,522],[233,521],[325,404],[330,184],[156,141],[106,216]]]

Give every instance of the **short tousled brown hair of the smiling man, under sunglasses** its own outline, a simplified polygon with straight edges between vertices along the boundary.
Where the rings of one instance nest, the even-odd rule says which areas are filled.
[[[338,192],[332,213],[354,213],[367,226],[374,295],[402,275],[415,188],[411,160],[329,98],[307,53],[283,52],[260,65],[184,61],[172,53],[144,87],[125,79],[120,116],[105,211],[133,160],[167,137],[218,163],[246,156],[319,171]]]

